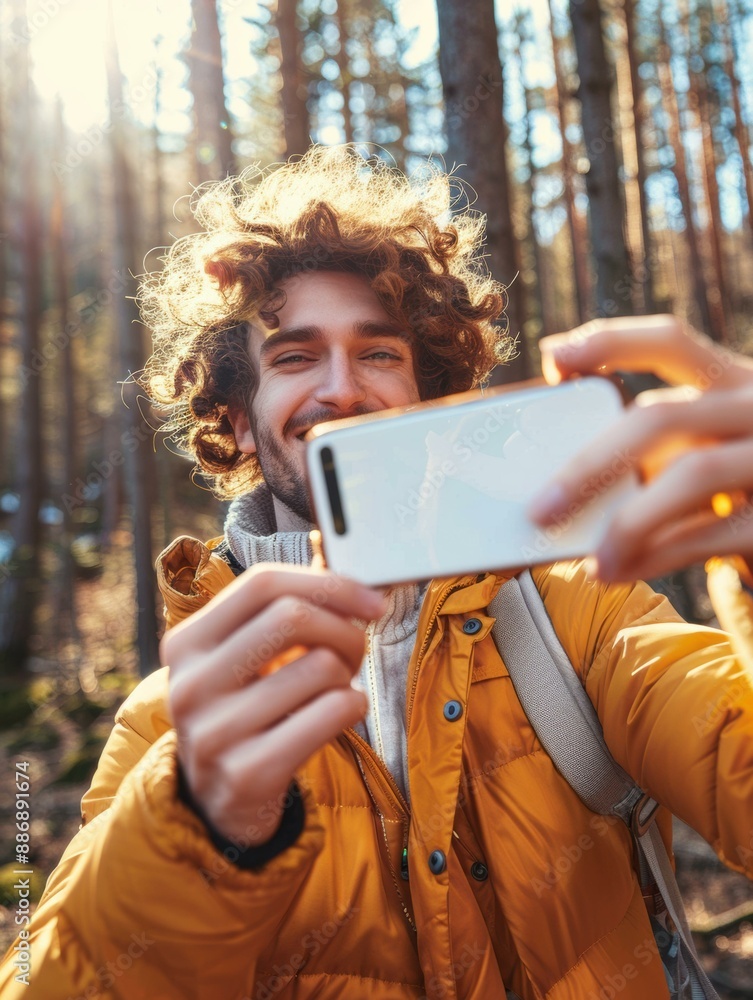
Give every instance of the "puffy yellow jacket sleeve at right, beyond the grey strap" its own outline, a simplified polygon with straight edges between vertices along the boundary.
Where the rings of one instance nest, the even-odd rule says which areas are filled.
[[[601,584],[580,564],[535,576],[615,759],[753,877],[753,675],[729,637],[644,583]]]

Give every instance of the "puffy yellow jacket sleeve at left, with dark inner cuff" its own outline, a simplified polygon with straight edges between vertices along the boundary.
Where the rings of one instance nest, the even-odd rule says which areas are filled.
[[[15,981],[10,952],[0,969],[4,1000],[253,994],[258,956],[305,881],[323,830],[304,791],[304,830],[283,854],[257,871],[219,854],[176,795],[165,685],[164,672],[148,678],[119,713],[84,797],[86,822],[29,928],[30,986]]]

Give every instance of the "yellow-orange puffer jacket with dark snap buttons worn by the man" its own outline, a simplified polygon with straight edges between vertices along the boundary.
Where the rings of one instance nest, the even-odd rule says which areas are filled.
[[[171,623],[232,579],[188,539],[160,574]],[[666,997],[628,832],[555,771],[496,651],[484,609],[504,579],[429,586],[409,668],[410,813],[345,732],[297,776],[301,836],[256,871],[220,855],[176,799],[167,675],[143,681],[32,921],[31,985],[7,959],[3,998]],[[594,583],[580,564],[534,579],[612,753],[666,807],[665,836],[671,811],[742,870],[753,688],[725,636],[686,625],[643,584]],[[482,625],[473,634],[469,618]],[[451,699],[464,710],[448,721]]]

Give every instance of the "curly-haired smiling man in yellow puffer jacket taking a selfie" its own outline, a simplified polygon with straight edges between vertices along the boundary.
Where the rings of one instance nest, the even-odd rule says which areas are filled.
[[[118,715],[32,924],[31,996],[668,995],[630,835],[555,770],[497,653],[508,574],[382,595],[308,565],[308,428],[495,360],[480,223],[449,209],[442,175],[313,150],[206,195],[208,232],[147,289],[152,394],[238,499],[223,539],[160,560],[169,680]],[[643,584],[533,575],[665,837],[672,811],[742,868],[753,708],[728,642]]]

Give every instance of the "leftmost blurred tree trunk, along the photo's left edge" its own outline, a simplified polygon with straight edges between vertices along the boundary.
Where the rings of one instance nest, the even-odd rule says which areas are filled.
[[[26,659],[34,631],[34,610],[40,587],[39,550],[41,528],[39,508],[42,501],[42,430],[41,393],[39,389],[39,331],[42,303],[42,215],[37,183],[39,152],[37,102],[33,91],[27,37],[26,5],[14,0],[12,5],[14,45],[12,78],[17,83],[16,112],[22,127],[17,130],[16,153],[21,183],[21,315],[19,347],[21,369],[18,400],[18,457],[16,478],[20,506],[14,520],[16,549],[13,573],[4,577],[0,607],[0,655],[12,667]]]

